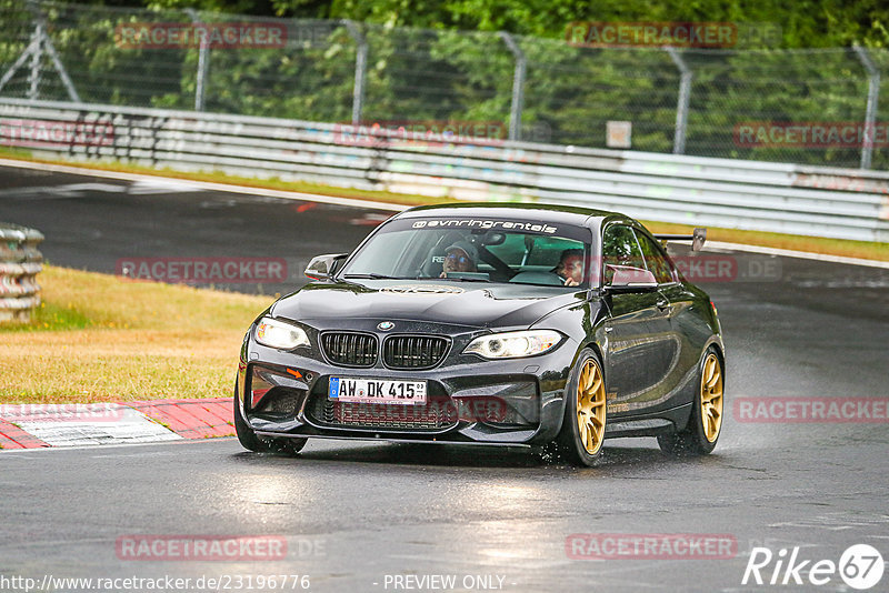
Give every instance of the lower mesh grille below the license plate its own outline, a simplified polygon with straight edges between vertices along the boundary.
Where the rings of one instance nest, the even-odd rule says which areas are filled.
[[[327,395],[312,396],[307,408],[310,420],[328,426],[366,430],[442,430],[456,424],[448,398],[430,398],[424,405],[334,402]]]

